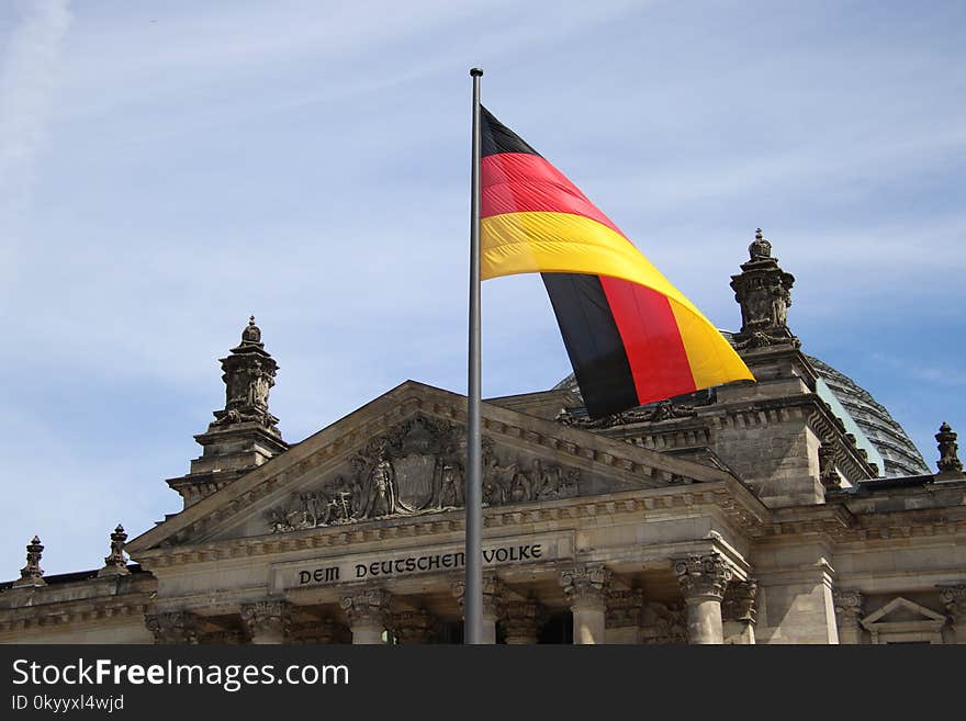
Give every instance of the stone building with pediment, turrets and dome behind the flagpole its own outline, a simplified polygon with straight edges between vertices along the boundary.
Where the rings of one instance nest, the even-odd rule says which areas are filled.
[[[806,356],[761,233],[729,337],[756,382],[591,420],[573,379],[484,404],[496,643],[966,643],[966,476]],[[465,398],[407,381],[295,443],[254,318],[183,510],[94,571],[0,584],[3,643],[456,643]],[[133,563],[125,560],[128,554]]]

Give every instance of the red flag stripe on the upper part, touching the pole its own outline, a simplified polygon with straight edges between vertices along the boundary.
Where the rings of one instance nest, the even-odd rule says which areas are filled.
[[[539,155],[488,155],[481,161],[480,176],[481,217],[504,213],[571,213],[620,233],[576,185]]]

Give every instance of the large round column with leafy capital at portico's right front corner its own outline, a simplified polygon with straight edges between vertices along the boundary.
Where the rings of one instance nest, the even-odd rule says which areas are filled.
[[[733,575],[717,553],[689,555],[674,563],[674,573],[687,604],[687,642],[724,643],[721,599]]]

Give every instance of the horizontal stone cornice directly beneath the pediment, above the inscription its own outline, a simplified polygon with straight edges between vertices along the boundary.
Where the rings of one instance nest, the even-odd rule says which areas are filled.
[[[665,488],[641,488],[606,496],[583,496],[553,502],[536,502],[516,506],[496,506],[483,509],[483,526],[504,534],[516,527],[554,522],[558,530],[563,523],[579,527],[582,522],[605,515],[632,514],[676,515],[692,514],[700,506],[718,508],[743,533],[761,536],[771,512],[738,481],[677,485]],[[385,543],[393,539],[422,539],[465,532],[462,510],[442,511],[417,518],[390,518],[361,521],[353,526],[330,526],[269,533],[252,538],[226,539],[178,547],[159,547],[138,554],[149,570],[205,563],[228,559],[246,559],[310,549],[358,548],[360,543]],[[441,542],[441,540],[440,540]]]

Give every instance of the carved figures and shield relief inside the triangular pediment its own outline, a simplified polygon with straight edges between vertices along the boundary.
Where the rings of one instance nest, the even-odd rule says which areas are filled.
[[[488,442],[487,442],[488,441]],[[272,532],[413,516],[464,504],[463,450],[448,421],[417,415],[349,459],[350,473],[266,511]],[[483,503],[503,505],[577,495],[580,472],[533,459],[501,461],[484,439]]]

